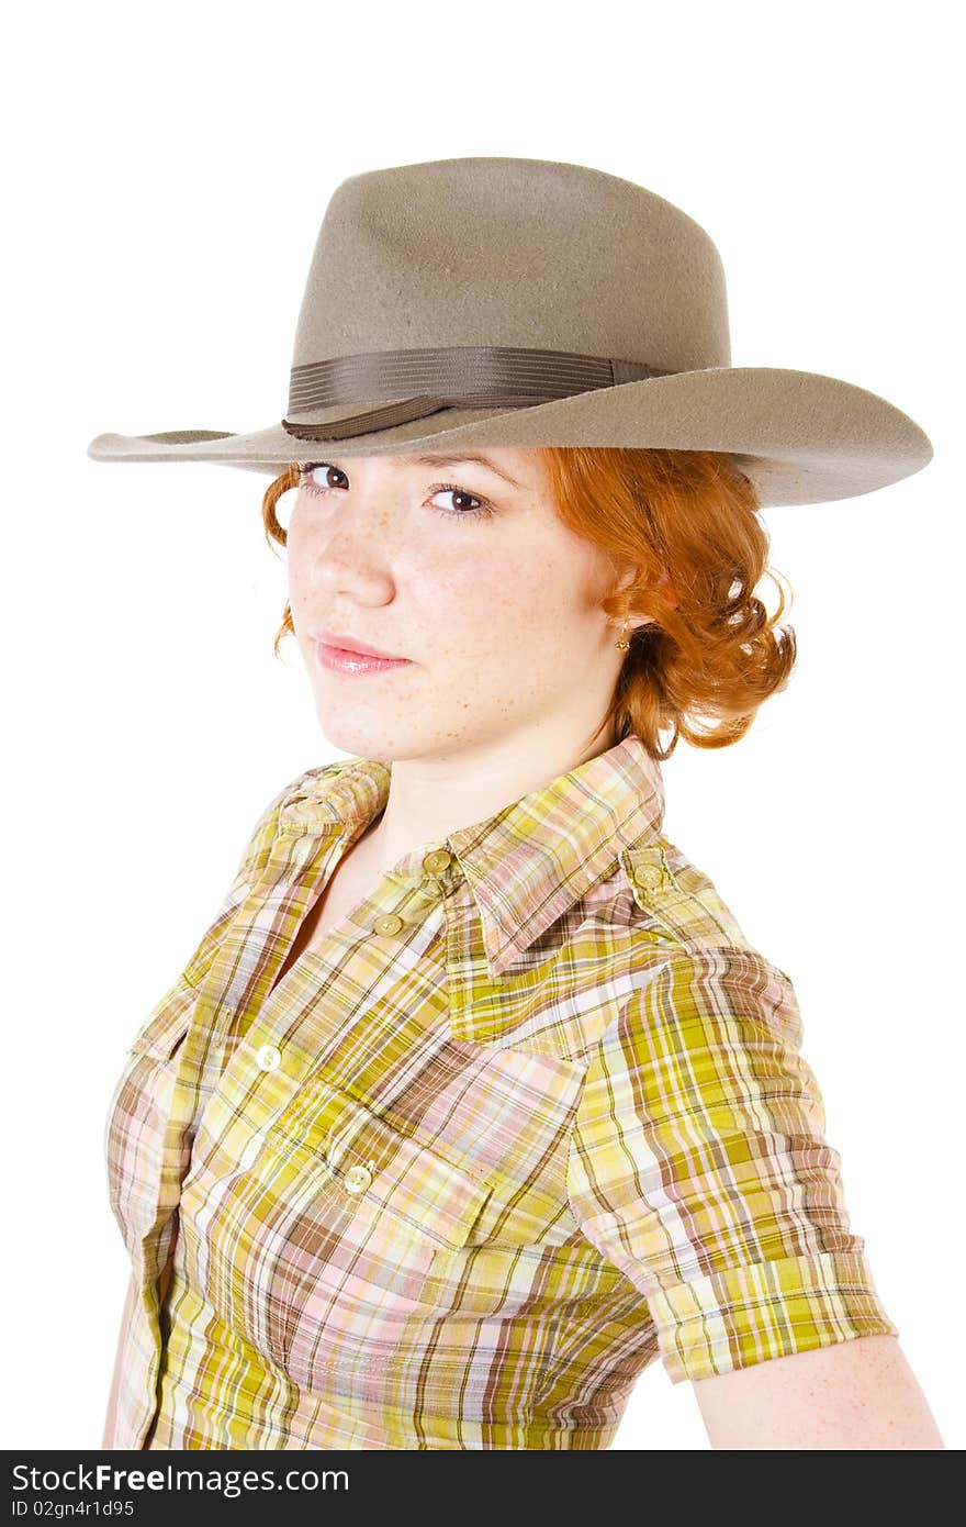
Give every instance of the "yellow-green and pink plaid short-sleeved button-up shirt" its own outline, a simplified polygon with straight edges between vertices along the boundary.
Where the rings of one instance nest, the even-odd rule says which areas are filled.
[[[388,788],[287,785],[128,1046],[113,1446],[598,1449],[656,1358],[899,1335],[791,979],[639,739],[406,854],[276,983]]]

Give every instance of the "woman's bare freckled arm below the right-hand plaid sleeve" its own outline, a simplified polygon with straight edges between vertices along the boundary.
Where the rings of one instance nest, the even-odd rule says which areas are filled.
[[[859,1336],[691,1382],[713,1448],[946,1446],[894,1336]]]

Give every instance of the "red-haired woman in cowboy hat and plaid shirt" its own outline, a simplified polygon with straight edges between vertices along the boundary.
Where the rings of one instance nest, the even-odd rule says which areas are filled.
[[[104,1445],[598,1449],[661,1358],[719,1448],[942,1448],[791,979],[659,770],[787,683],[757,512],[922,469],[919,426],[733,370],[717,250],[652,192],[465,159],[337,188],[281,425],[89,450],[272,473],[276,649],[348,754],[130,1046]]]

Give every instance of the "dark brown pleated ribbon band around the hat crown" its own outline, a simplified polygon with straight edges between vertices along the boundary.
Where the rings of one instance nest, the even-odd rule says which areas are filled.
[[[675,376],[642,360],[581,356],[572,350],[517,350],[511,345],[453,345],[441,350],[369,350],[293,366],[288,412],[333,403],[397,402],[330,418],[324,425],[282,420],[298,440],[345,440],[392,429],[447,408],[533,408],[597,388]]]

